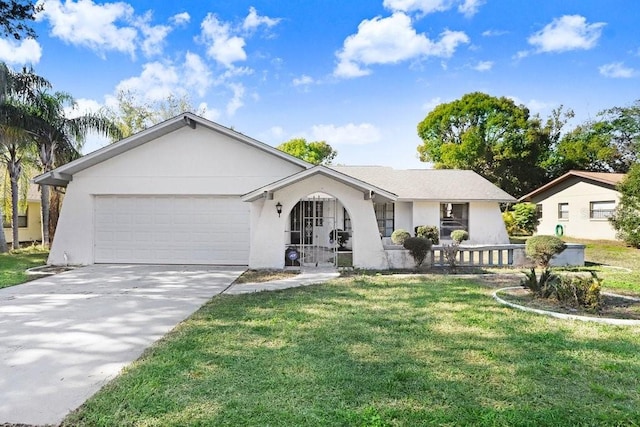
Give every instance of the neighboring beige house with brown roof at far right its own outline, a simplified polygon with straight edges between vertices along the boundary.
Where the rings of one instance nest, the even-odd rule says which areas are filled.
[[[520,198],[538,206],[538,234],[615,240],[608,218],[618,205],[621,173],[572,170]]]

